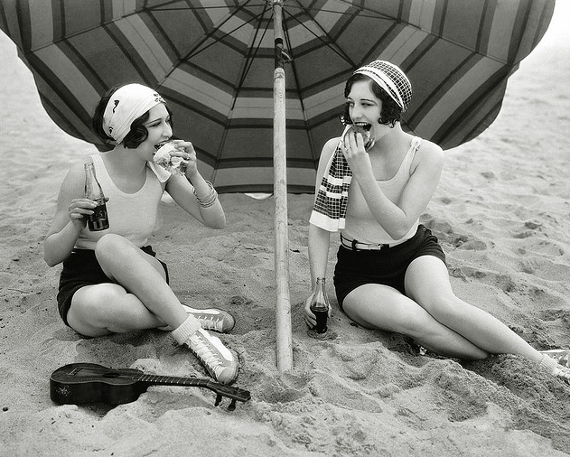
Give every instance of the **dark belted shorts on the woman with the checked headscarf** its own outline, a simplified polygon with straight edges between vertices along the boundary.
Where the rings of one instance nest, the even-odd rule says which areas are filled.
[[[334,288],[342,302],[363,284],[385,284],[406,294],[407,267],[419,256],[435,256],[445,263],[444,250],[430,229],[419,225],[414,237],[395,247],[381,250],[351,250],[341,245],[334,268]]]

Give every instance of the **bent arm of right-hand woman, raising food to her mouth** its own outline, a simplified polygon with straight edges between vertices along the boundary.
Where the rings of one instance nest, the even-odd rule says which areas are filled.
[[[360,191],[378,224],[390,237],[400,239],[406,235],[432,199],[444,166],[444,152],[438,145],[423,141],[412,163],[411,176],[402,197],[400,201],[393,203],[379,188],[363,146],[360,148],[359,145],[358,149],[361,149],[361,152],[350,160],[350,169],[359,182]]]

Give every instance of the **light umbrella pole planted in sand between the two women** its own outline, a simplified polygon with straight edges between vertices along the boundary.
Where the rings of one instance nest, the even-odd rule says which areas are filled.
[[[285,70],[283,68],[283,0],[274,0],[276,68],[273,79],[273,192],[276,232],[276,342],[277,368],[293,368],[291,303],[289,299],[289,241],[287,234],[287,163],[285,138]]]

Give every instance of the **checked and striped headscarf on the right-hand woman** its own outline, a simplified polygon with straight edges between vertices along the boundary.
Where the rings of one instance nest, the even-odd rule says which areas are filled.
[[[402,108],[402,112],[409,107],[412,98],[412,84],[397,65],[388,61],[371,61],[352,74],[366,75],[376,82],[397,103],[397,106]]]

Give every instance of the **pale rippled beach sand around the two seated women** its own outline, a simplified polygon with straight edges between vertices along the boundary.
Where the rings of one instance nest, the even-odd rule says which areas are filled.
[[[561,4],[561,2],[558,2]],[[506,322],[537,349],[570,347],[570,52],[567,5],[509,80],[500,117],[446,152],[422,221],[440,238],[456,294]],[[3,456],[560,456],[570,453],[570,387],[525,359],[463,362],[420,356],[409,340],[350,322],[332,288],[330,331],[303,322],[309,293],[313,195],[289,196],[294,369],[276,368],[273,199],[224,194],[228,226],[211,230],[169,203],[151,244],[174,292],[237,318],[220,335],[238,353],[229,400],[198,387],[150,387],[135,402],[58,406],[55,368],[91,362],[145,373],[207,377],[163,331],[84,339],[55,301],[61,266],[42,239],[61,181],[90,145],[43,111],[28,70],[0,36],[0,455]]]

